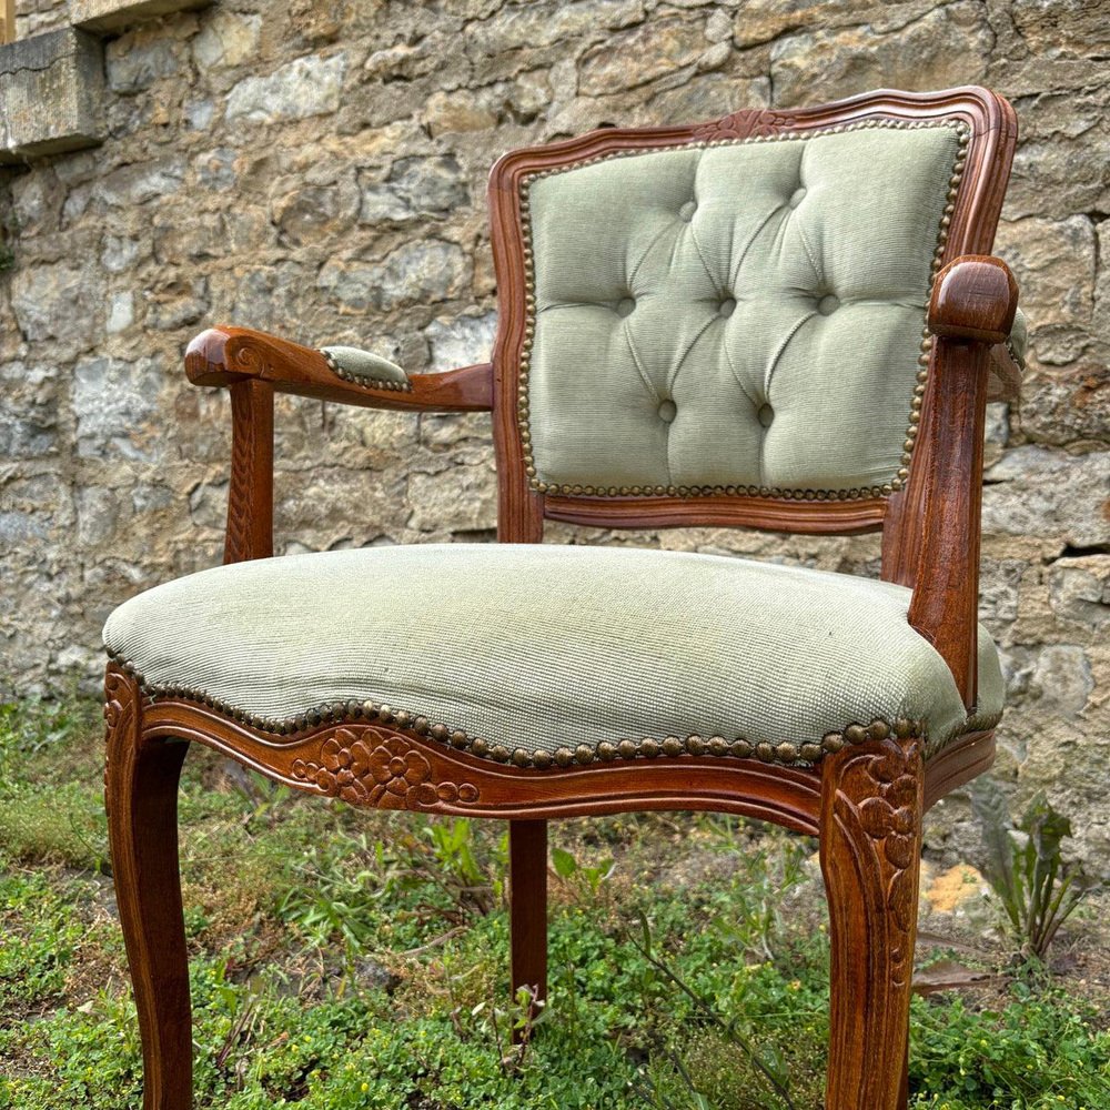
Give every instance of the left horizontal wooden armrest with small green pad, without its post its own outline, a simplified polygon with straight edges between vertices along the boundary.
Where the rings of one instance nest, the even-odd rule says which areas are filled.
[[[443,374],[405,374],[356,347],[312,347],[249,327],[202,332],[185,351],[194,385],[265,382],[281,393],[372,408],[483,412],[493,408],[493,366],[480,363]]]

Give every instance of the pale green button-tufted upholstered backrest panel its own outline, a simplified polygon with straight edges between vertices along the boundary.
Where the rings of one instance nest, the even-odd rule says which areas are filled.
[[[866,497],[907,475],[955,121],[532,174],[522,437],[552,493]]]

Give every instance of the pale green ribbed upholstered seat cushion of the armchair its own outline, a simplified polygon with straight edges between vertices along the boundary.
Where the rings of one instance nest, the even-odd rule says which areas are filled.
[[[997,719],[990,638],[969,722],[907,624],[909,599],[722,556],[415,545],[202,571],[120,606],[104,640],[150,693],[191,692],[283,734],[319,723],[321,705],[385,704],[390,719],[426,718],[445,726],[434,737],[533,766],[627,756],[620,743],[645,738],[793,763],[875,719],[920,723],[930,751]]]

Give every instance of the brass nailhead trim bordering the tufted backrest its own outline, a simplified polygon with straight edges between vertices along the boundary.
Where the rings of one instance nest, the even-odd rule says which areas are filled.
[[[738,113],[737,113],[738,114]],[[921,327],[921,347],[918,355],[920,370],[917,374],[918,389],[915,390],[910,402],[909,421],[906,431],[906,443],[898,468],[889,481],[872,486],[851,487],[847,490],[793,490],[779,486],[760,485],[712,485],[712,486],[675,486],[675,485],[630,485],[630,486],[605,486],[588,484],[567,484],[545,482],[538,474],[536,461],[532,452],[532,430],[528,425],[529,403],[528,403],[528,377],[532,364],[532,349],[536,335],[536,295],[535,295],[535,253],[532,242],[532,215],[531,215],[531,189],[535,181],[542,178],[551,178],[561,173],[568,173],[596,162],[607,162],[618,158],[638,158],[645,154],[658,153],[670,149],[700,149],[712,147],[739,147],[748,143],[760,142],[786,142],[791,140],[814,139],[827,134],[842,134],[848,131],[862,131],[874,128],[912,131],[920,129],[951,128],[958,135],[959,149],[952,162],[952,173],[948,181],[948,192],[945,198],[945,208],[937,229],[936,246],[932,252],[932,263],[929,271],[929,286],[925,295],[925,313],[928,314],[928,305],[932,295],[932,285],[937,273],[944,264],[945,250],[948,245],[948,229],[951,225],[952,213],[956,211],[956,199],[959,193],[960,182],[963,180],[963,170],[967,165],[967,151],[971,141],[971,128],[963,120],[860,120],[856,123],[841,123],[836,127],[821,128],[814,131],[777,131],[769,132],[771,125],[777,125],[780,118],[769,114],[769,119],[763,121],[763,127],[756,132],[745,138],[736,138],[738,125],[735,124],[735,115],[726,117],[728,125],[719,131],[706,131],[703,134],[719,134],[723,138],[699,139],[694,142],[676,144],[674,148],[647,147],[634,150],[609,151],[605,154],[595,154],[592,158],[584,158],[565,165],[553,167],[546,170],[535,170],[524,174],[519,186],[519,212],[521,212],[521,241],[524,252],[524,276],[525,276],[525,322],[524,340],[521,344],[521,363],[517,376],[517,428],[521,436],[521,445],[524,452],[524,470],[528,476],[528,485],[532,490],[542,494],[562,494],[571,496],[586,497],[713,497],[713,496],[748,496],[768,497],[785,501],[859,501],[869,497],[889,497],[892,493],[901,490],[909,476],[910,458],[914,454],[914,441],[918,434],[921,418],[921,400],[925,395],[925,385],[928,381],[929,365],[932,357],[932,335],[928,324]],[[781,118],[786,123],[793,123],[793,118]]]

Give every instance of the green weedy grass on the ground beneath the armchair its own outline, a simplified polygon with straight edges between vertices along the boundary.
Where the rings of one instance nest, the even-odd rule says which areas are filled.
[[[77,698],[0,707],[0,1107],[140,1098],[99,734]],[[821,1104],[813,841],[709,816],[556,826],[551,999],[518,1052],[500,825],[304,799],[204,750],[181,821],[199,1110]],[[1029,966],[915,998],[911,1104],[1110,1108],[1108,999],[1077,981]]]

